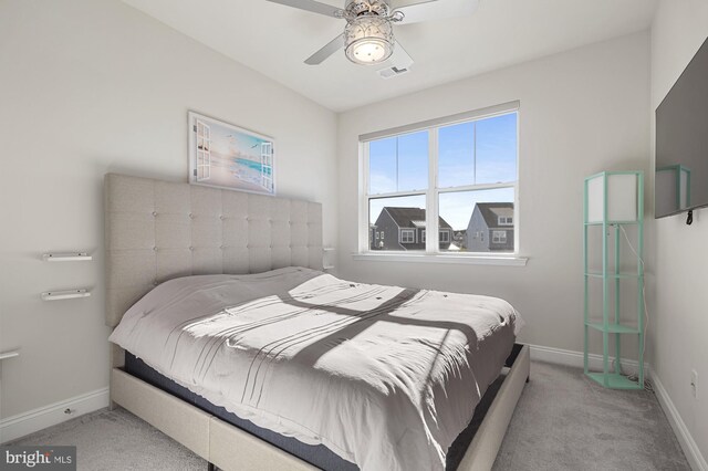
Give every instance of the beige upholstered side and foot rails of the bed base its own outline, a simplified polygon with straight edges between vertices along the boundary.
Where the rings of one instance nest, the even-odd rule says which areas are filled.
[[[137,379],[122,369],[122,350],[112,354],[111,405],[118,405],[207,460],[209,471],[316,470],[310,463]],[[513,357],[516,353],[516,357]],[[470,443],[458,471],[490,470],[529,378],[529,347],[518,346],[513,364]]]

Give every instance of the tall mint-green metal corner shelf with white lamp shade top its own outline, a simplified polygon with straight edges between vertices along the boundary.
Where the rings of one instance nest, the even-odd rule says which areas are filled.
[[[617,193],[617,195],[613,195]],[[610,200],[624,197],[624,208],[613,208]],[[632,198],[635,198],[634,201]],[[643,389],[644,388],[644,174],[642,171],[603,171],[585,178],[583,209],[583,269],[584,269],[584,369],[593,380],[606,388]],[[627,209],[628,208],[628,209]],[[634,211],[634,214],[632,212]],[[627,214],[632,217],[627,217]],[[613,219],[613,217],[615,219]],[[591,227],[602,227],[602,270],[591,271],[589,264],[589,231]],[[621,231],[624,227],[636,227],[636,273],[621,272]],[[626,236],[626,232],[624,233]],[[611,266],[608,239],[614,238],[614,261]],[[591,318],[590,283],[602,283],[602,320]],[[627,325],[621,316],[621,285],[626,280],[637,282],[636,325]],[[614,291],[611,291],[614,284]],[[614,293],[614,296],[612,294]],[[614,299],[612,299],[614,297]],[[587,365],[589,339],[591,331],[602,333],[603,370],[591,371]],[[611,368],[610,338],[614,335],[615,365]],[[637,380],[622,374],[622,335],[638,337]]]

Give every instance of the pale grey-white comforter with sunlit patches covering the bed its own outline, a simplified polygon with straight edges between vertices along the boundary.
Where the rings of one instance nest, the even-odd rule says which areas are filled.
[[[442,470],[514,339],[477,295],[300,268],[168,281],[111,335],[212,404],[362,470]]]

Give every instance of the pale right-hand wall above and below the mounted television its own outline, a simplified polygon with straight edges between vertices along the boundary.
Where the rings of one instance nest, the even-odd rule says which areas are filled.
[[[706,36],[708,2],[659,3],[652,25],[652,119],[654,109]],[[653,122],[650,128],[654,133]],[[654,145],[654,134],[650,143]],[[656,307],[649,311],[652,363],[654,374],[705,459],[708,457],[708,210],[695,211],[693,226],[686,226],[685,221],[686,214],[681,214],[655,222]],[[698,373],[697,397],[691,394],[691,369]]]

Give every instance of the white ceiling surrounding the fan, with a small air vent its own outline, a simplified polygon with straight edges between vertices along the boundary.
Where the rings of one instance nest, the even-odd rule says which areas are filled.
[[[642,31],[657,3],[480,0],[472,15],[395,27],[415,63],[409,73],[384,80],[376,73],[381,64],[355,65],[344,52],[321,65],[303,63],[342,32],[344,20],[266,0],[124,1],[335,112]]]

